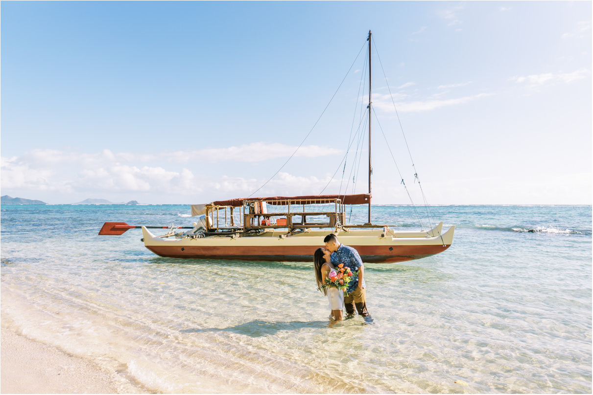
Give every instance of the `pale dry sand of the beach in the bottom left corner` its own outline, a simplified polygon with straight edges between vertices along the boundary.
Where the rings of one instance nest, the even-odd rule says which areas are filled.
[[[115,372],[2,327],[2,394],[149,393]]]

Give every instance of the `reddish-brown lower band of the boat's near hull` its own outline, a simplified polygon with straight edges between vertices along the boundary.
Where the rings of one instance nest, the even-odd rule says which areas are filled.
[[[425,258],[443,252],[449,245],[431,246],[352,246],[363,262],[391,263]],[[312,262],[318,247],[217,247],[217,246],[146,246],[159,256],[168,258],[238,259],[241,261]]]

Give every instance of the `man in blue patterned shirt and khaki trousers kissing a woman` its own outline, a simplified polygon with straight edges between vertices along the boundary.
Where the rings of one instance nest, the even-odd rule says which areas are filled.
[[[326,243],[327,249],[331,252],[330,260],[332,264],[335,266],[344,264],[353,273],[358,270],[358,275],[354,274],[352,276],[346,289],[348,296],[344,296],[346,313],[354,314],[354,307],[356,306],[358,314],[369,317],[369,313],[366,311],[364,266],[358,251],[340,243],[333,233],[327,235],[323,242]]]

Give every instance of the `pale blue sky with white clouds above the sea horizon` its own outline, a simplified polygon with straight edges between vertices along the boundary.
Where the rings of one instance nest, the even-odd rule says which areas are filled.
[[[591,204],[591,5],[2,1],[1,194],[366,193],[371,30],[373,203]]]

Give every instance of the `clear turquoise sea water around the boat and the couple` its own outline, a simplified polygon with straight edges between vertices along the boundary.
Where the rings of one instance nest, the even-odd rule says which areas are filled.
[[[168,393],[591,393],[591,206],[435,206],[447,251],[367,264],[329,325],[311,264],[160,258],[185,205],[2,205],[2,326]],[[374,222],[417,230],[408,206]],[[352,220],[364,220],[366,207]],[[426,227],[426,223],[424,224]],[[463,380],[467,386],[455,384]],[[123,384],[122,384],[123,385]]]

